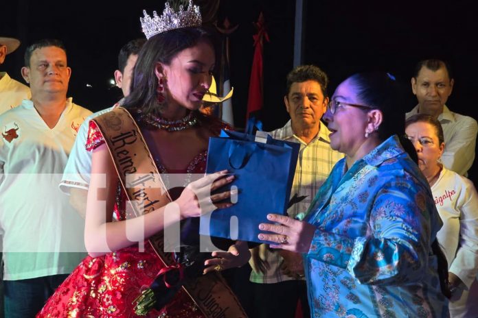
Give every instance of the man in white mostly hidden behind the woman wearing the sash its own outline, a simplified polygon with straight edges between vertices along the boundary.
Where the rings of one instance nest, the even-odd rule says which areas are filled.
[[[124,97],[130,93],[133,69],[138,58],[139,50],[141,50],[145,42],[146,39],[144,38],[130,40],[121,48],[120,54],[118,55],[118,69],[115,71],[115,81],[116,85],[121,88]],[[116,105],[120,103],[121,101],[116,103]],[[95,112],[84,120],[78,130],[78,136],[76,136],[75,144],[71,149],[71,154],[60,183],[60,190],[70,195],[71,205],[78,210],[82,217],[84,217],[84,213],[86,212],[91,172],[91,152],[87,151],[84,147],[87,144],[89,122],[91,119],[100,116],[100,114],[109,112],[114,107],[115,106]]]

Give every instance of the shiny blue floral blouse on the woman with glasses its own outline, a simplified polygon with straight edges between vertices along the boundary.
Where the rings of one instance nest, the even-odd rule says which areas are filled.
[[[396,136],[337,162],[306,221],[312,317],[448,317],[431,243],[442,222],[428,183]]]

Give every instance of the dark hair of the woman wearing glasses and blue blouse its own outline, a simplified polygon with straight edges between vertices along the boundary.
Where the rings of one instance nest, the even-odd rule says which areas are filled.
[[[357,97],[365,105],[383,113],[378,138],[386,140],[397,135],[403,149],[418,162],[415,147],[405,136],[405,99],[403,88],[393,75],[385,72],[357,73],[349,77],[358,90]]]

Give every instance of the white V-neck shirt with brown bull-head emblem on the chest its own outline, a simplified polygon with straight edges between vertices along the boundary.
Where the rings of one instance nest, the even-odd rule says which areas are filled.
[[[86,255],[84,221],[58,183],[77,130],[89,114],[70,98],[52,129],[30,100],[0,115],[3,279],[70,273]]]

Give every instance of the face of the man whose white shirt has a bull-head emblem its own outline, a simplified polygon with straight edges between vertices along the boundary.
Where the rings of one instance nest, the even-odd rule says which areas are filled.
[[[36,49],[30,58],[30,66],[23,67],[22,75],[30,84],[32,95],[63,93],[66,96],[71,75],[67,54],[59,47]]]

